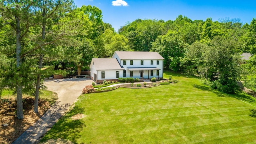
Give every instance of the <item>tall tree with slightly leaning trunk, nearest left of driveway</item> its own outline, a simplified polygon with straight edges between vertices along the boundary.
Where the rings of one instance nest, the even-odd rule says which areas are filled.
[[[40,92],[40,83],[41,83],[41,68],[43,63],[43,52],[48,44],[52,44],[57,39],[61,38],[55,34],[55,38],[53,39],[46,39],[46,32],[52,32],[52,24],[54,23],[54,19],[59,19],[62,14],[68,12],[72,8],[73,1],[72,0],[39,0],[37,1],[37,8],[39,11],[37,12],[37,16],[39,19],[38,25],[42,28],[41,36],[42,38],[38,38],[39,46],[38,48],[38,55],[39,55],[39,62],[38,62],[38,72],[37,72],[37,80],[36,80],[36,92],[35,92],[35,102],[34,102],[34,112],[38,113],[38,98]],[[47,25],[47,30],[46,30]],[[64,35],[62,35],[64,36]],[[54,37],[54,36],[49,36]],[[48,44],[45,44],[45,43]],[[42,45],[44,44],[44,45]]]

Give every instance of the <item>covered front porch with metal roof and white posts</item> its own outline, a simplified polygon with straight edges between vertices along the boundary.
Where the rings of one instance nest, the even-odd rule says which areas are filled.
[[[160,68],[156,67],[140,67],[140,68],[127,68],[130,71],[130,77],[140,79],[150,79],[153,77],[159,78]]]

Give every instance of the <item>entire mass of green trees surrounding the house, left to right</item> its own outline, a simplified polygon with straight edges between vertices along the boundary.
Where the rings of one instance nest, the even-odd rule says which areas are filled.
[[[256,89],[256,58],[244,63],[239,56],[256,53],[255,18],[250,24],[181,15],[166,22],[137,19],[115,32],[99,8],[76,8],[72,0],[0,0],[0,10],[0,92],[16,94],[20,119],[22,94],[35,96],[38,112],[43,79],[52,70],[80,75],[93,57],[109,58],[115,51],[156,51],[165,58],[164,68],[201,76],[223,92],[233,93],[237,80]]]

